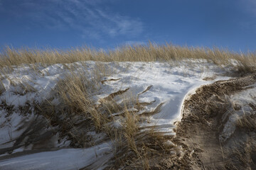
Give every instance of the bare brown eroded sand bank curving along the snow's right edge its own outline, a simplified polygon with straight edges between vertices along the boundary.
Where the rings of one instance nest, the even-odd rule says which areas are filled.
[[[189,164],[190,169],[230,169],[230,150],[238,147],[234,140],[239,143],[240,137],[250,137],[252,133],[237,128],[227,141],[220,140],[220,133],[228,121],[223,119],[223,115],[239,111],[239,106],[233,106],[228,98],[255,84],[255,75],[201,86],[196,94],[184,101],[183,118],[177,125],[174,138],[174,142],[182,145],[184,154],[189,157],[184,166]]]

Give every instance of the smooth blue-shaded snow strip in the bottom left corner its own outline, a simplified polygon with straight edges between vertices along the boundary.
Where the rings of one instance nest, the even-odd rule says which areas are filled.
[[[87,149],[60,149],[14,157],[0,161],[1,170],[10,169],[81,169],[97,162],[94,167],[103,169],[107,159],[112,157],[111,146],[97,145]],[[107,158],[107,159],[106,159]]]

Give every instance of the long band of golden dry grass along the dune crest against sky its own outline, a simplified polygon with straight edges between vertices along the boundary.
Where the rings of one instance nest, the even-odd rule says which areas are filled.
[[[100,62],[154,62],[176,61],[186,59],[205,59],[220,66],[234,65],[237,72],[254,72],[256,56],[252,52],[230,52],[217,47],[187,47],[166,43],[156,45],[149,42],[147,45],[122,46],[114,50],[97,50],[93,47],[77,47],[70,50],[56,49],[14,49],[6,47],[1,52],[0,67],[20,64],[56,64],[73,63],[80,61]]]

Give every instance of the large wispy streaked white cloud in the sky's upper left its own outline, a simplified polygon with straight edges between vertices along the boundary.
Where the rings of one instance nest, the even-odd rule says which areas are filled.
[[[111,1],[111,0],[109,0]],[[0,0],[1,2],[1,0]],[[99,39],[103,36],[115,38],[119,35],[133,36],[143,32],[143,23],[138,18],[121,16],[101,7],[102,0],[19,0],[15,8],[22,10],[33,24],[51,29],[73,29],[84,38]],[[1,4],[1,3],[0,3]]]

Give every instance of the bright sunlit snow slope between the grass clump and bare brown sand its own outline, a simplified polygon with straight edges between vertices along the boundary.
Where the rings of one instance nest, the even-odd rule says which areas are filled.
[[[128,72],[119,72],[124,68],[127,68]],[[199,86],[213,82],[204,81],[206,77],[215,77],[214,81],[228,79],[217,74],[220,74],[218,67],[207,62],[183,62],[178,66],[162,62],[126,62],[119,63],[117,74],[107,77],[120,80],[107,81],[102,89],[112,93],[129,88],[127,94],[136,96],[151,86],[149,91],[139,95],[139,102],[154,101],[150,106],[146,106],[146,111],[154,111],[160,103],[164,105],[159,113],[152,115],[146,125],[142,126],[156,125],[159,131],[174,135],[174,123],[181,120],[181,107],[185,97]],[[98,97],[102,98],[104,95]]]

